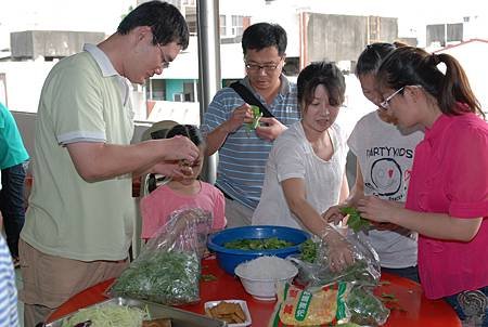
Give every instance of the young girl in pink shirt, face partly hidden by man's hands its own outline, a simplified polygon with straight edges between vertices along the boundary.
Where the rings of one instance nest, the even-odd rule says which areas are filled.
[[[176,135],[189,138],[200,148],[200,156],[194,161],[193,173],[172,180],[150,193],[141,200],[143,239],[154,237],[169,214],[178,209],[200,208],[211,212],[213,230],[226,226],[226,201],[222,193],[211,184],[198,180],[205,153],[205,143],[198,128],[193,125],[177,125],[166,134],[166,139]]]

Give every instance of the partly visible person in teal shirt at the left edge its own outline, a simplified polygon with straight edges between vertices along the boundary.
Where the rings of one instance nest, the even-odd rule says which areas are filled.
[[[0,103],[0,211],[15,267],[18,265],[18,236],[25,220],[24,182],[28,159],[15,119],[9,108]]]

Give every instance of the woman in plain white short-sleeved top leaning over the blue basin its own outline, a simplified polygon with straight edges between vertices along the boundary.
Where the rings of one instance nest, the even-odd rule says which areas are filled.
[[[297,227],[321,236],[321,213],[349,193],[346,139],[335,119],[346,83],[332,63],[312,63],[298,76],[301,120],[277,139],[268,158],[254,225]]]

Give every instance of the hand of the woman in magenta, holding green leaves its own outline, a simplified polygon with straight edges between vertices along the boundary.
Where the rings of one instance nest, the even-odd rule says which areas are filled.
[[[393,222],[391,218],[395,217],[399,208],[393,201],[383,200],[375,196],[367,196],[358,201],[357,209],[364,219],[388,223]]]

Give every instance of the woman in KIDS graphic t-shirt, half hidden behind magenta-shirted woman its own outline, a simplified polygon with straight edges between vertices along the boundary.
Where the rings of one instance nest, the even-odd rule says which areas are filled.
[[[377,110],[362,117],[352,130],[347,144],[357,158],[357,175],[349,197],[338,206],[331,207],[324,218],[342,220],[341,207],[355,207],[369,195],[398,201],[407,199],[407,189],[416,144],[423,131],[400,130],[381,103],[383,99],[375,89],[375,74],[381,61],[397,44],[373,43],[361,53],[356,67],[364,96],[377,106]],[[393,273],[419,282],[416,267],[416,233],[391,224],[374,224],[367,234],[360,232],[380,256],[382,272]]]

